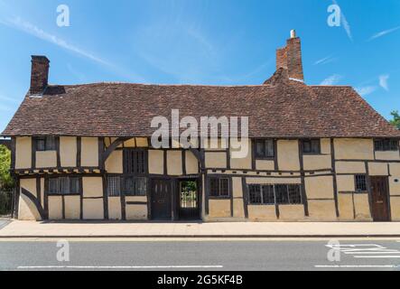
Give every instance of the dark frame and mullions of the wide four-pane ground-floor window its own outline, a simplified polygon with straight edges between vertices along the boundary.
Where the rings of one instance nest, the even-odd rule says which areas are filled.
[[[278,202],[277,198],[277,187],[283,187],[285,188],[286,191],[286,202]],[[296,187],[298,188],[298,193],[300,197],[300,202],[293,202],[291,195],[290,195],[290,187]],[[251,202],[251,197],[250,197],[250,191],[252,191],[251,188],[258,188],[258,192],[260,193],[260,203],[256,202]],[[274,203],[266,203],[264,201],[264,188],[265,187],[273,187],[274,190]],[[247,198],[247,203],[250,206],[288,206],[288,205],[304,205],[304,201],[302,200],[302,185],[298,183],[275,183],[275,184],[247,184],[247,193],[248,193],[248,198]]]

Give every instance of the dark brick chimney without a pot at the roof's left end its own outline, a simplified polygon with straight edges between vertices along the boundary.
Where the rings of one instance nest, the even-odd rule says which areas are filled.
[[[45,56],[32,56],[30,94],[42,94],[48,85],[50,61]]]

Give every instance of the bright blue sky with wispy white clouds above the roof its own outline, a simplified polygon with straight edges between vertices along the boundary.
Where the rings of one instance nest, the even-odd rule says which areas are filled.
[[[307,84],[351,85],[384,117],[400,110],[400,1],[0,0],[0,131],[29,89],[31,55],[50,82],[261,84],[291,29]],[[70,27],[57,25],[58,5]],[[360,112],[362,113],[362,112]]]

